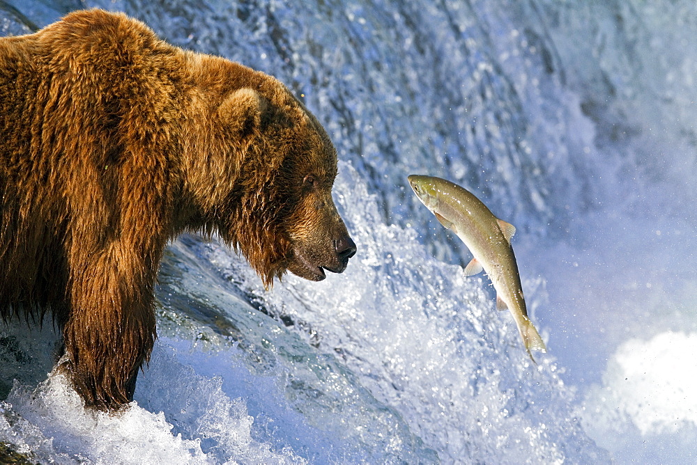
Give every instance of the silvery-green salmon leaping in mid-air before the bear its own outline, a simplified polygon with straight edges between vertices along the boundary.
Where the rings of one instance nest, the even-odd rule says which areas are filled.
[[[497,308],[510,310],[528,355],[535,362],[530,350],[546,352],[546,347],[528,318],[518,264],[511,246],[516,228],[493,216],[487,205],[453,182],[425,175],[411,175],[408,180],[419,200],[445,228],[457,234],[474,255],[465,267],[465,275],[472,276],[482,270],[487,272],[496,289]]]

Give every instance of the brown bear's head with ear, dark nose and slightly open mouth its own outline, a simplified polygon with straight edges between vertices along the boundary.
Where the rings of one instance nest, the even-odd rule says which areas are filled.
[[[217,121],[222,152],[198,163],[204,229],[241,251],[266,287],[286,271],[312,281],[344,271],[356,247],[332,200],[337,153],[312,113],[270,78],[226,95]]]

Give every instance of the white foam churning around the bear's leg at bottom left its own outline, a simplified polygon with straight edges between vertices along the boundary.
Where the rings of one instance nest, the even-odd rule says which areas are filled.
[[[185,363],[178,360],[179,352],[174,347],[184,354]],[[215,372],[222,371],[229,379],[228,391],[252,397],[264,393],[259,389],[264,378],[271,386],[275,386],[274,379],[250,374],[236,359],[239,351],[234,348],[218,352],[222,356],[213,357],[204,369],[213,375],[204,376],[192,367],[206,365],[212,356],[206,355],[206,349],[192,346],[189,340],[158,340],[151,363],[139,377],[136,402],[113,414],[84,409],[82,400],[59,372],[35,388],[15,381],[1,406],[0,439],[11,443],[17,452],[47,462],[305,463],[287,441],[279,439],[284,434],[254,431],[254,418],[247,413],[245,401],[227,395],[222,377]],[[273,406],[285,405],[282,394],[275,391],[267,388],[267,394],[273,393],[267,399],[273,398]],[[253,402],[264,400],[256,398]],[[299,417],[290,409],[285,415]],[[273,418],[268,422],[273,423]],[[281,421],[277,427],[286,428],[291,423]],[[296,418],[296,423],[302,420]],[[301,425],[292,426],[290,434],[302,429]],[[261,429],[264,427],[270,425],[261,425]],[[275,439],[275,443],[254,439],[252,434]],[[328,452],[332,448],[326,440],[324,446]]]

